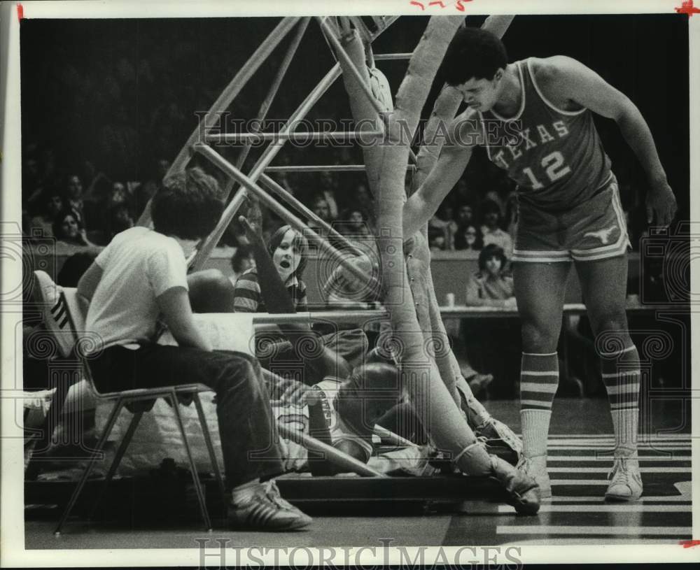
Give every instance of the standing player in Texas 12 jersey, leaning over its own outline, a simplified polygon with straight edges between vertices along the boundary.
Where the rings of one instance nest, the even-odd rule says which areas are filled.
[[[647,218],[668,225],[676,211],[654,140],[638,108],[597,73],[570,57],[508,63],[488,31],[459,29],[441,66],[468,105],[447,129],[440,158],[405,204],[412,235],[456,184],[476,145],[519,187],[513,252],[522,325],[520,398],[524,460],[542,499],[551,497],[547,434],[559,383],[556,345],[566,280],[573,264],[596,334],[615,431],[608,500],[642,493],[637,456],[639,357],[625,313],[629,247],[617,180],[592,113],[617,122],[649,180]]]

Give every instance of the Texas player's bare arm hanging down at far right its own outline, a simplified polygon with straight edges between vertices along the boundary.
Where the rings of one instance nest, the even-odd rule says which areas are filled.
[[[668,225],[676,211],[675,197],[666,180],[654,138],[639,109],[624,93],[612,87],[592,69],[565,56],[550,57],[540,69],[547,85],[555,86],[557,98],[589,108],[617,123],[650,181],[647,219],[656,214],[657,224]],[[538,71],[538,77],[540,75]]]

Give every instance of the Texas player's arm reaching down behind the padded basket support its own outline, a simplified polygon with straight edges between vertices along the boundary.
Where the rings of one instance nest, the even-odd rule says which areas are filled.
[[[479,125],[469,110],[458,115],[449,127],[449,141],[426,179],[403,206],[403,237],[408,239],[435,215],[464,172],[479,139]]]

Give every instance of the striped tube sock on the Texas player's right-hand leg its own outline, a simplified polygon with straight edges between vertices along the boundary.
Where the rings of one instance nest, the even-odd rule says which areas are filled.
[[[603,383],[608,390],[615,450],[636,453],[639,418],[639,355],[634,345],[601,352]]]

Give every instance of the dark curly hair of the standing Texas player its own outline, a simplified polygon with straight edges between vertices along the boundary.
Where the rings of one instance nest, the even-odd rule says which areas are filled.
[[[496,34],[461,27],[447,47],[439,74],[447,85],[461,85],[472,78],[491,80],[507,64],[505,45]]]

